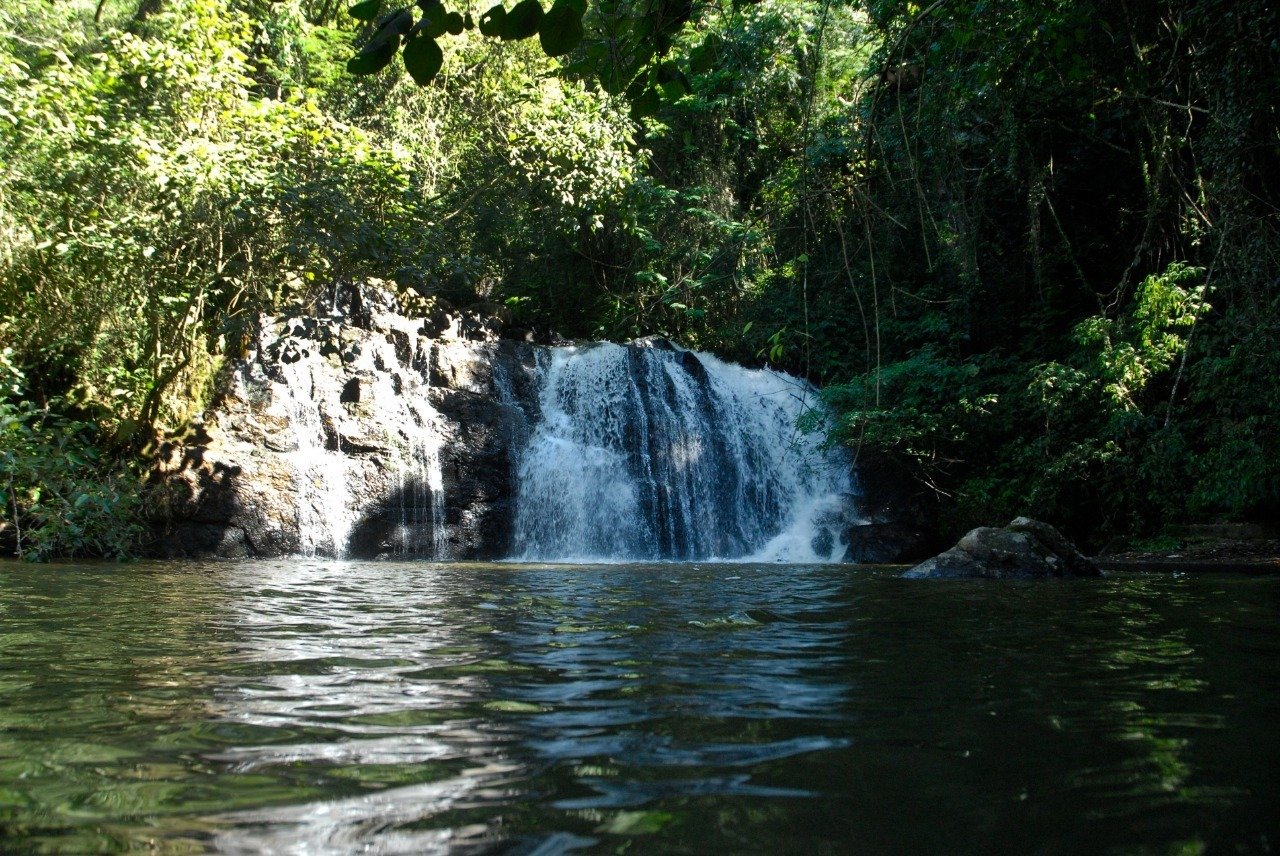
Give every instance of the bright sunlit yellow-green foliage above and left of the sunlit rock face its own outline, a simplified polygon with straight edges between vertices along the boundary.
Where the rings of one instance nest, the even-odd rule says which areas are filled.
[[[0,347],[31,379],[35,409],[9,404],[23,472],[54,481],[106,479],[40,470],[56,430],[114,461],[198,413],[260,312],[388,275],[462,305],[518,298],[507,279],[596,228],[637,164],[625,115],[548,77],[536,46],[499,58],[463,35],[449,50],[468,72],[419,90],[335,73],[348,36],[293,4],[174,0],[145,29],[40,29],[35,0],[0,17],[27,33],[0,44]],[[54,505],[33,508],[28,523]],[[47,543],[32,555],[119,551]]]

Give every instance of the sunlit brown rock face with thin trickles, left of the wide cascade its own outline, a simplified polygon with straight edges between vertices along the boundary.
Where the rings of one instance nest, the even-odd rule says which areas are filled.
[[[509,449],[538,406],[535,345],[407,319],[376,288],[335,306],[262,319],[204,425],[163,444],[157,553],[507,554]]]

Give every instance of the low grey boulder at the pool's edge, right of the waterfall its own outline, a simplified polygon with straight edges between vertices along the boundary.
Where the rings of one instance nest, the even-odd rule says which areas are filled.
[[[1033,580],[1097,577],[1101,572],[1056,528],[1019,517],[1004,528],[983,526],[970,531],[946,553],[902,576],[913,580]]]

